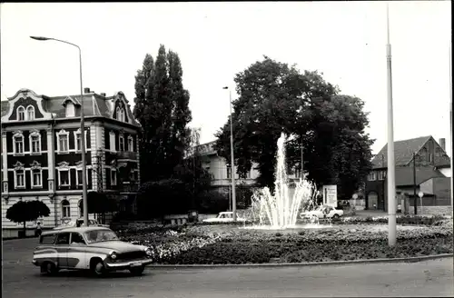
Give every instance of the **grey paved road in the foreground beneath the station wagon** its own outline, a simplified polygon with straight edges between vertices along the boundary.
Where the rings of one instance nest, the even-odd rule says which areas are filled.
[[[453,259],[420,263],[292,268],[153,269],[41,275],[31,264],[36,239],[4,243],[3,297],[454,297]]]

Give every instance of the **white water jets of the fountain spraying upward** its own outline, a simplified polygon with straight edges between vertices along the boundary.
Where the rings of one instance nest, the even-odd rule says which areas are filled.
[[[291,228],[319,228],[318,218],[311,219],[311,224],[297,226],[299,214],[315,207],[315,185],[302,177],[292,189],[285,164],[286,135],[281,134],[278,140],[276,173],[274,181],[274,195],[268,187],[256,191],[252,195],[252,221],[259,221],[259,225],[250,229],[281,230]],[[291,193],[293,193],[291,195]],[[258,217],[258,218],[257,218]]]

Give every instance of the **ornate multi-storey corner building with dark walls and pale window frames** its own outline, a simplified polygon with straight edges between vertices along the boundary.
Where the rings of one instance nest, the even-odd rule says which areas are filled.
[[[122,92],[106,96],[85,88],[83,100],[21,89],[1,102],[4,230],[17,226],[5,214],[19,200],[47,204],[50,216],[39,219],[44,227],[82,216],[82,107],[88,192],[103,192],[121,209],[133,210],[140,124]]]

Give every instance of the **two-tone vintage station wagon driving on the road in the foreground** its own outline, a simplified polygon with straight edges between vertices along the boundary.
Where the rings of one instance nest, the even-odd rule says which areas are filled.
[[[120,241],[111,229],[88,226],[42,233],[32,263],[49,274],[69,269],[95,275],[129,270],[140,275],[153,260],[150,248]]]

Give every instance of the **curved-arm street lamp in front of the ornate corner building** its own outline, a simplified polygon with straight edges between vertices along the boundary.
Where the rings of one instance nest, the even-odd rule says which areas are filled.
[[[82,87],[82,54],[79,45],[66,42],[64,40],[43,37],[43,36],[30,36],[30,38],[38,41],[54,40],[55,42],[64,43],[67,45],[73,45],[79,50],[79,65],[80,65],[80,81],[81,81],[81,154],[82,154],[82,199],[84,205],[84,225],[88,226],[88,202],[87,202],[87,190],[86,190],[86,162],[85,162],[85,124],[84,124],[84,93]]]

